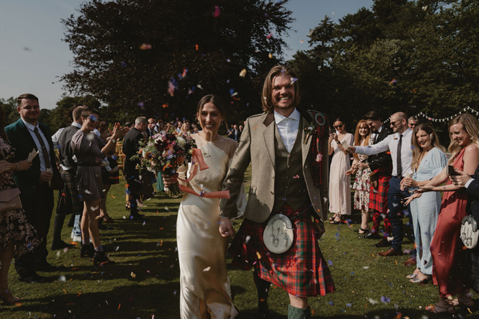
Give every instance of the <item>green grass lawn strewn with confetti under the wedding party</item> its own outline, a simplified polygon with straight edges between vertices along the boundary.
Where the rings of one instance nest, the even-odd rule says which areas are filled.
[[[18,281],[12,264],[10,288],[14,296],[21,297],[22,305],[0,305],[0,318],[179,318],[175,228],[179,199],[155,195],[145,202],[148,207],[142,212],[147,218],[142,222],[128,220],[125,182],[112,186],[108,197],[108,212],[115,223],[101,231],[101,238],[118,264],[94,267],[88,258],[79,257],[78,249],[50,251],[49,262],[67,269],[40,273],[51,283],[38,284]],[[440,318],[424,310],[438,301],[438,288],[417,286],[406,279],[414,271],[402,266],[407,255],[378,257],[379,250],[372,247],[376,240],[357,238],[359,221],[356,213],[350,227],[326,225],[320,247],[330,264],[336,292],[309,299],[313,318]],[[411,233],[409,227],[405,230]],[[53,218],[48,247],[52,232]],[[64,240],[70,239],[70,232],[65,223]],[[404,242],[404,249],[413,248],[410,236]],[[255,318],[257,298],[250,271],[230,270],[229,275],[238,318]],[[273,287],[269,298],[272,318],[286,318],[288,303],[287,294]],[[459,318],[479,318],[479,309],[470,311],[460,309]]]

